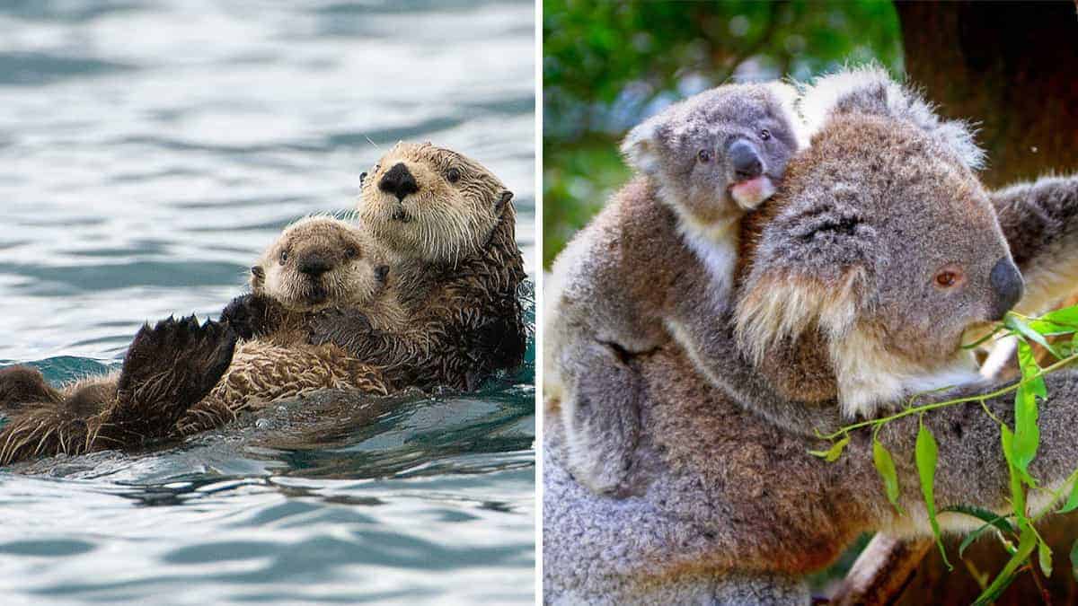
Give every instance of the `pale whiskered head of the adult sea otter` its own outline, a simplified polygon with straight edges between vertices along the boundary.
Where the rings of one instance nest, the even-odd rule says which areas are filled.
[[[399,142],[364,175],[359,212],[398,257],[454,263],[487,242],[512,195],[462,154]]]

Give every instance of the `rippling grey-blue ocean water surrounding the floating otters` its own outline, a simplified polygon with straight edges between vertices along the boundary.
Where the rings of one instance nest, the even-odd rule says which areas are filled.
[[[0,0],[0,366],[70,381],[215,316],[399,139],[498,174],[534,273],[533,50],[526,1]],[[534,359],[0,469],[3,603],[530,603]]]

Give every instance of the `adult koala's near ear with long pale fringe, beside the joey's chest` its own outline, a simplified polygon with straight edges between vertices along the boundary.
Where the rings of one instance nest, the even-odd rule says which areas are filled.
[[[735,330],[757,363],[806,329],[817,328],[834,341],[854,328],[868,297],[875,238],[856,196],[842,185],[808,195],[814,202],[764,219],[752,237],[756,248],[749,252]]]

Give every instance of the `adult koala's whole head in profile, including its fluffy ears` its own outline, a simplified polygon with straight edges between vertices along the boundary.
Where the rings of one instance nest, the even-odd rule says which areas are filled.
[[[999,320],[1022,278],[973,175],[968,132],[883,73],[817,86],[837,100],[751,220],[763,228],[749,230],[737,330],[758,363],[818,330],[843,411],[871,416],[880,402],[976,380],[963,332]]]

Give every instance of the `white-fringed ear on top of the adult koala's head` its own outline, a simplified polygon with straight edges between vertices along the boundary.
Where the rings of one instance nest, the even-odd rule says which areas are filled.
[[[984,150],[973,129],[960,120],[941,120],[935,108],[911,86],[896,82],[874,65],[848,68],[816,80],[801,99],[801,112],[811,133],[828,120],[848,113],[886,115],[912,122],[950,148],[972,170],[984,165]]]

